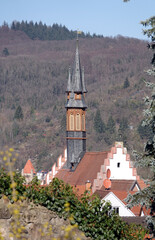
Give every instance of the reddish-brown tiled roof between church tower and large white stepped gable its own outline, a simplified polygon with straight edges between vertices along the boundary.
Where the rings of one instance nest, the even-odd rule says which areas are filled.
[[[101,165],[107,158],[108,152],[88,152],[85,153],[75,171],[71,172],[67,169],[59,170],[55,177],[62,179],[71,185],[85,185],[86,181],[93,184],[100,171]]]

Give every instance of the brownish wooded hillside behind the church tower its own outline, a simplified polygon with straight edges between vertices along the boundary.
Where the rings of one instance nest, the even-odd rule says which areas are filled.
[[[28,158],[49,169],[65,146],[65,90],[75,39],[38,40],[0,28],[0,149],[14,147],[18,168]],[[88,93],[87,151],[108,150],[123,140],[129,150],[143,148],[149,130],[140,126],[147,95],[144,70],[147,43],[117,36],[80,38],[81,64]]]

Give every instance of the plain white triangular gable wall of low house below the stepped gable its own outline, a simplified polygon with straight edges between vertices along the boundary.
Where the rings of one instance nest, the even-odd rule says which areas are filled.
[[[121,217],[135,216],[135,214],[130,209],[128,209],[126,205],[112,192],[107,194],[103,200],[110,201],[112,207],[119,207],[119,216]]]

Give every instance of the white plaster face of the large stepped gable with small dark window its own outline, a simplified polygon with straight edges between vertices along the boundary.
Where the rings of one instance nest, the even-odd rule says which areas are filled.
[[[136,180],[136,176],[132,174],[132,168],[129,168],[129,161],[126,161],[126,154],[123,154],[122,148],[117,148],[116,154],[113,154],[113,158],[109,159],[110,166],[107,167],[111,170],[110,179],[126,179]],[[120,167],[117,167],[117,163],[120,163]]]

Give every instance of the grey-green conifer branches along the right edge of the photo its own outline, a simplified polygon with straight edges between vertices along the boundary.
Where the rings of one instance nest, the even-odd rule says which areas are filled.
[[[155,16],[143,21],[142,24],[147,27],[147,30],[144,30],[144,34],[151,37],[151,43],[149,43],[148,47],[154,52]],[[155,53],[153,53],[151,64],[152,68],[147,72],[150,76],[155,77]],[[155,84],[149,82],[147,86],[152,89],[152,96],[151,98],[145,98],[145,103],[148,107],[144,112],[145,120],[143,125],[151,129],[152,137],[146,142],[144,153],[135,152],[135,165],[142,169],[145,168],[145,171],[148,172],[148,186],[133,196],[129,195],[127,201],[130,207],[140,204],[150,210],[147,222],[151,233],[155,236]]]

